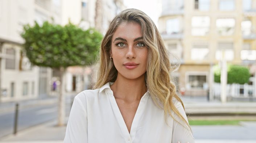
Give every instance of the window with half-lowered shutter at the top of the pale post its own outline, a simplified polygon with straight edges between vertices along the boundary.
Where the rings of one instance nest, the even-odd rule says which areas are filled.
[[[232,61],[234,59],[233,43],[223,42],[218,44],[218,50],[216,51],[215,58],[217,60],[221,60],[222,57],[227,61]]]

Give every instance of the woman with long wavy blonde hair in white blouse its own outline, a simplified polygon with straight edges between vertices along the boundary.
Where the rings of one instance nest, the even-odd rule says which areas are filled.
[[[171,64],[153,21],[127,9],[100,47],[94,90],[79,93],[65,143],[194,143]]]

